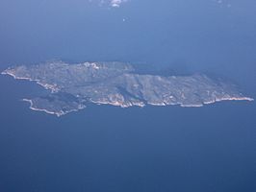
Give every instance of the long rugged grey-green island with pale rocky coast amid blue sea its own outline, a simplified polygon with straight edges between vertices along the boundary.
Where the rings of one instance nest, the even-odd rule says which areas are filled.
[[[179,105],[202,107],[227,100],[253,101],[235,84],[204,74],[164,76],[139,73],[130,63],[60,60],[9,67],[3,75],[35,82],[50,90],[48,95],[23,99],[30,108],[62,116],[88,104],[121,108]]]

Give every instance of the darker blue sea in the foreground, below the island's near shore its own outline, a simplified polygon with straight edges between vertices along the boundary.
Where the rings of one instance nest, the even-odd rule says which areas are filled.
[[[1,191],[255,189],[254,103],[90,106],[57,118],[17,101],[28,84],[1,83]]]

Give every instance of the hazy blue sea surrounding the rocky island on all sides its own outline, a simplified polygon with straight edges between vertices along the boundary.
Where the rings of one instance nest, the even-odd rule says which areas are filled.
[[[119,60],[227,78],[256,98],[256,3],[0,2],[0,70]],[[256,190],[256,104],[89,106],[61,118],[19,100],[43,91],[0,76],[0,192]]]

